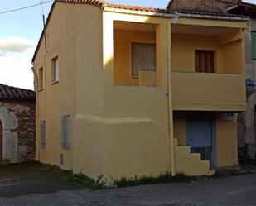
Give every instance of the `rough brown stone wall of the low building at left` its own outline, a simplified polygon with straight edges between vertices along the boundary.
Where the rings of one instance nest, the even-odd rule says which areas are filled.
[[[35,160],[36,156],[36,103],[26,101],[0,101],[0,107],[7,108],[17,118],[17,128],[7,132],[3,131],[3,164],[14,162],[26,162]],[[1,120],[1,118],[0,118]],[[5,127],[8,127],[6,125]],[[10,134],[15,134],[17,138],[10,138]],[[12,137],[12,135],[11,135]],[[8,138],[5,140],[4,138]],[[17,141],[17,142],[10,142]],[[13,148],[13,146],[17,148]],[[10,148],[8,148],[10,147]],[[17,154],[9,154],[10,152]],[[15,158],[5,158],[14,156]]]

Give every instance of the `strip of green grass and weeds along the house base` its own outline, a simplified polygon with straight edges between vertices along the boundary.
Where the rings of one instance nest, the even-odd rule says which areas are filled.
[[[127,179],[121,178],[120,180],[113,179],[109,176],[109,180],[112,180],[111,184],[107,184],[104,176],[99,176],[97,180],[94,180],[83,174],[73,174],[71,170],[61,170],[60,167],[44,165],[39,162],[31,162],[25,164],[13,164],[4,165],[0,167],[0,170],[4,170],[7,173],[14,174],[28,174],[33,175],[36,178],[48,178],[47,180],[53,180],[56,184],[75,186],[79,188],[87,189],[108,189],[108,188],[121,188],[138,186],[141,184],[162,184],[171,182],[190,182],[195,178],[186,176],[184,174],[177,174],[172,176],[170,173],[165,173],[157,177],[143,176]]]

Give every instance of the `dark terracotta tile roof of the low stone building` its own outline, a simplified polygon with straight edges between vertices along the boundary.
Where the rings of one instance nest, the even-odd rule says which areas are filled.
[[[4,84],[0,84],[0,101],[1,100],[36,100],[36,93],[28,89],[20,89]]]

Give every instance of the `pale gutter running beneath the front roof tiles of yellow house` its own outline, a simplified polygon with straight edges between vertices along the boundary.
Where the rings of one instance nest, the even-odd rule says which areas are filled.
[[[248,21],[249,17],[230,17],[230,16],[221,16],[221,15],[210,15],[210,14],[194,14],[194,13],[182,13],[182,12],[174,12],[174,13],[162,13],[162,12],[140,12],[134,10],[120,9],[120,8],[111,8],[105,7],[104,12],[118,12],[125,14],[137,14],[142,16],[149,17],[167,17],[167,18],[175,18],[177,14],[179,17],[192,17],[192,18],[203,18],[203,19],[219,19],[219,20],[231,20],[231,21]]]

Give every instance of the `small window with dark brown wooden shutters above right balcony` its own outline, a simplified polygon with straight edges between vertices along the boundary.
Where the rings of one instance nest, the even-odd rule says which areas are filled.
[[[195,51],[196,72],[214,73],[215,72],[215,52],[196,50]]]

